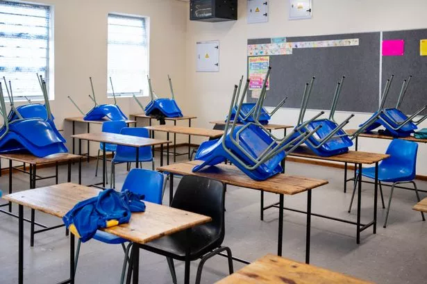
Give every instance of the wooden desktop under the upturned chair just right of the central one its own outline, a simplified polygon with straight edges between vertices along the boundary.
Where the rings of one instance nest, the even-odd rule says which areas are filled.
[[[294,152],[290,153],[289,156],[302,157],[302,158],[312,158],[319,160],[330,160],[333,162],[349,162],[351,164],[365,164],[371,165],[375,162],[380,162],[390,157],[388,154],[382,153],[370,153],[362,151],[348,151],[340,155],[332,157],[321,157],[313,153],[308,147],[299,147]]]

